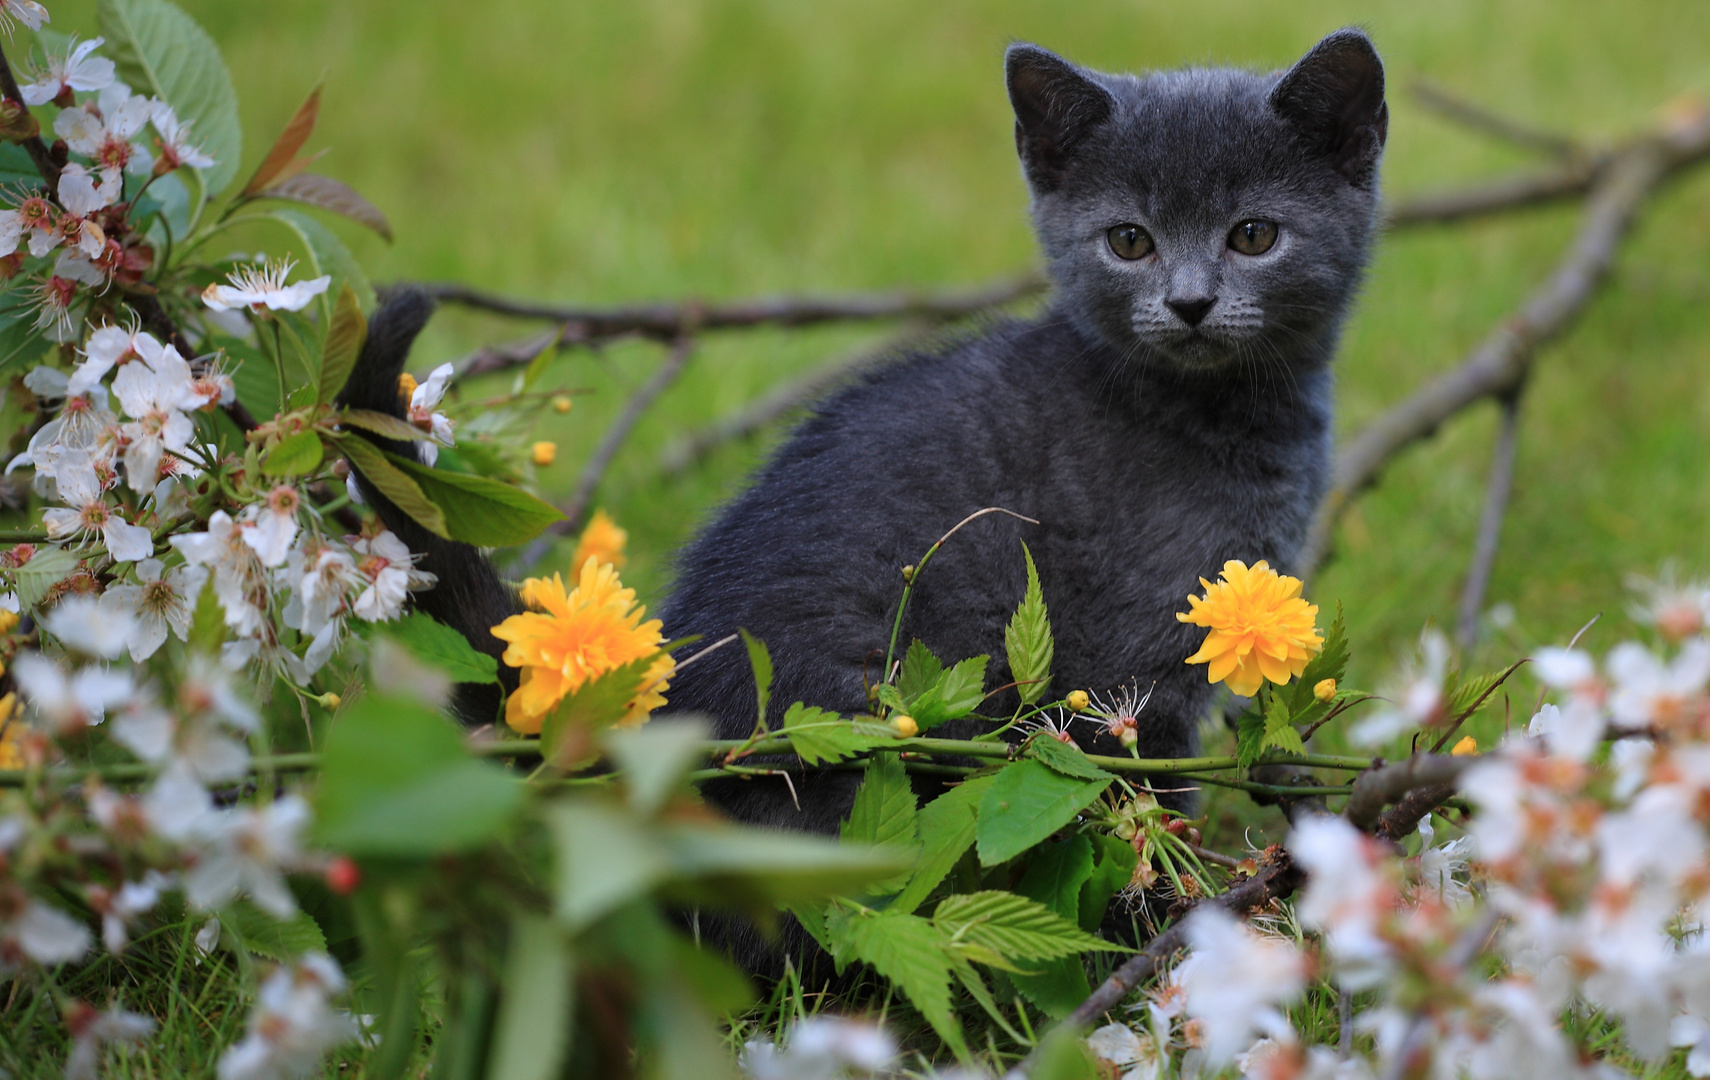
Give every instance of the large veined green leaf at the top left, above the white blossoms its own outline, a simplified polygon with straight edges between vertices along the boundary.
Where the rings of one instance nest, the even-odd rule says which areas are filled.
[[[209,195],[238,176],[243,128],[238,92],[219,48],[197,21],[166,0],[96,0],[106,53],[118,77],[139,94],[152,94],[192,125],[192,142],[214,159],[202,171]]]

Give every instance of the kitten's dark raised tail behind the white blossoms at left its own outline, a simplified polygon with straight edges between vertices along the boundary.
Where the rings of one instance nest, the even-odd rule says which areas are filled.
[[[421,289],[404,285],[388,291],[368,323],[368,342],[363,345],[351,379],[339,395],[339,405],[371,408],[405,419],[407,410],[398,393],[398,376],[404,373],[404,362],[409,359],[416,335],[428,325],[433,311],[433,297]],[[369,432],[352,434],[373,441],[381,449],[409,458],[416,456],[416,448],[407,443],[383,439]],[[481,554],[481,549],[436,537],[422,528],[386,499],[356,468],[354,461],[351,475],[361,485],[363,499],[380,514],[386,528],[397,533],[398,540],[407,543],[412,552],[422,554],[417,566],[439,579],[431,590],[416,593],[416,608],[450,625],[482,653],[498,658],[504,651],[504,643],[492,636],[492,627],[520,612],[522,605],[487,557]],[[499,680],[504,692],[515,690],[516,670],[501,663]],[[465,723],[494,723],[499,701],[501,689],[492,684],[460,684],[453,707]]]

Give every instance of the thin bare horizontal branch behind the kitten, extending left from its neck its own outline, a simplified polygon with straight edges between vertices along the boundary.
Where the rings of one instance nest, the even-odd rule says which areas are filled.
[[[575,308],[518,301],[457,282],[422,285],[429,296],[513,318],[563,323],[564,342],[602,342],[624,335],[675,340],[686,330],[730,330],[739,326],[811,326],[816,323],[925,318],[951,320],[1000,308],[1045,291],[1038,273],[956,292],[872,292],[845,297],[775,297],[728,304],[641,304],[634,308]]]

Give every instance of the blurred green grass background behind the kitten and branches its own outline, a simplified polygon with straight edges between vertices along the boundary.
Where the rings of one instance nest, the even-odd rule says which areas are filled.
[[[325,79],[311,147],[332,152],[318,167],[397,231],[386,246],[337,226],[374,280],[552,301],[958,285],[1026,270],[1035,246],[1000,79],[1017,38],[1113,70],[1282,67],[1358,22],[1390,72],[1392,197],[1534,164],[1423,109],[1407,94],[1419,77],[1587,140],[1710,92],[1703,0],[180,2],[226,51],[245,171]],[[55,29],[92,31],[89,0],[53,12]],[[1342,350],[1342,432],[1455,364],[1544,277],[1573,222],[1565,207],[1390,238]],[[1489,593],[1517,622],[1477,661],[1561,641],[1597,612],[1607,617],[1592,644],[1607,648],[1628,632],[1623,574],[1671,557],[1710,567],[1707,304],[1710,169],[1648,207],[1613,287],[1542,357]],[[530,330],[446,311],[416,366]],[[626,578],[643,596],[662,595],[669,554],[766,444],[728,448],[674,482],[655,475],[658,449],[874,333],[708,338],[600,490],[631,530]],[[559,361],[556,376],[597,393],[552,432],[551,492],[569,489],[657,361],[648,345]],[[1493,439],[1495,408],[1472,410],[1347,518],[1310,593],[1346,605],[1356,685],[1377,685],[1426,620],[1452,627]]]

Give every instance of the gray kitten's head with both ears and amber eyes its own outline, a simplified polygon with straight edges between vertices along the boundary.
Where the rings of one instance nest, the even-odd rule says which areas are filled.
[[[1188,371],[1325,355],[1389,128],[1363,32],[1271,75],[1105,75],[1033,44],[1005,65],[1040,243],[1082,330]]]

